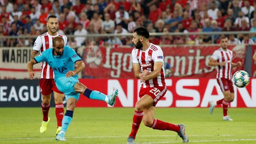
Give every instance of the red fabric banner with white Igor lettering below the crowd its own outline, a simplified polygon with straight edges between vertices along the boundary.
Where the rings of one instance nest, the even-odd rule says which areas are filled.
[[[172,73],[167,77],[215,78],[215,67],[208,66],[208,60],[220,46],[174,46],[162,47],[164,62],[169,64]],[[232,62],[244,64],[245,45],[229,46],[233,51]],[[83,76],[94,78],[134,78],[132,68],[132,48],[110,48],[92,46],[85,48],[83,60],[86,69]],[[243,70],[233,68],[232,71]]]

